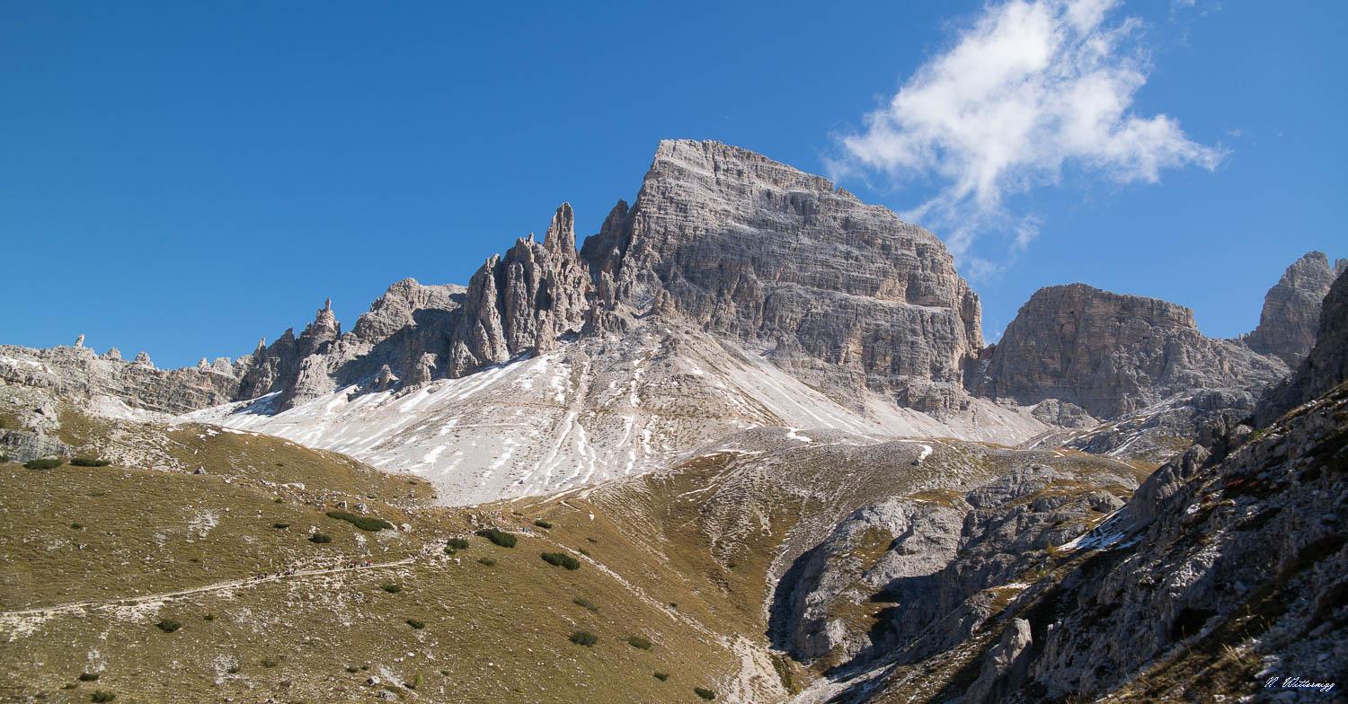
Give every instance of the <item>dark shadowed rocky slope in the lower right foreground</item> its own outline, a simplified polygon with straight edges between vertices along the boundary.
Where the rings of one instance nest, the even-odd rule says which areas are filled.
[[[1339,363],[1345,281],[1326,296],[1316,347],[1295,377],[1313,382],[1270,397],[1290,408],[1285,416],[1254,432],[1240,423],[1205,427],[1198,444],[1151,474],[1122,509],[1050,547],[995,618],[962,629],[968,621],[956,610],[937,629],[903,629],[899,646],[798,700],[1337,696],[1330,685],[1348,668],[1348,524],[1337,510],[1348,499],[1348,384]],[[1321,388],[1328,393],[1310,396]],[[1016,555],[1006,547],[992,555]],[[933,639],[936,647],[902,645]],[[1298,680],[1320,687],[1289,684]]]

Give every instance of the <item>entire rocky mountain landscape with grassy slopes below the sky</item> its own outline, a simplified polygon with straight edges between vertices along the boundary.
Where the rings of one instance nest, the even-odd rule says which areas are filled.
[[[984,346],[934,236],[679,140],[580,248],[562,205],[349,330],[4,346],[0,692],[1295,699],[1348,621],[1321,262],[1239,341],[1070,284]]]

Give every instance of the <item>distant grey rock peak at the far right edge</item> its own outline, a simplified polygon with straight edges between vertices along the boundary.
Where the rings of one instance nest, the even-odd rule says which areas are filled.
[[[1320,306],[1348,261],[1339,260],[1333,271],[1322,252],[1309,252],[1268,289],[1259,314],[1259,327],[1246,337],[1246,345],[1260,354],[1273,354],[1295,369],[1312,345],[1320,326]]]

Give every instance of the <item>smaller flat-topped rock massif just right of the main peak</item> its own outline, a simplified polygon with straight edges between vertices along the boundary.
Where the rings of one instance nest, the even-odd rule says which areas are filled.
[[[1085,284],[1041,288],[985,353],[975,393],[1115,417],[1194,389],[1260,389],[1286,365],[1198,332],[1193,311]]]

